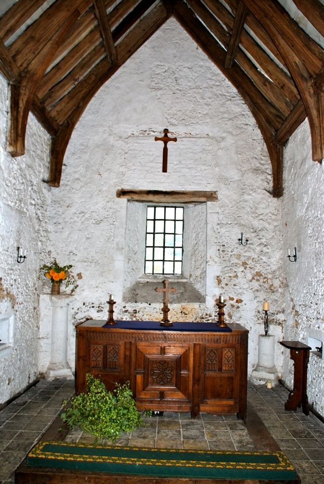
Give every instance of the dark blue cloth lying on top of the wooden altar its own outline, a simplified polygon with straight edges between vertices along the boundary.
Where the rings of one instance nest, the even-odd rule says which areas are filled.
[[[231,333],[228,326],[220,328],[216,322],[174,322],[173,326],[160,326],[160,321],[121,321],[116,320],[115,325],[103,325],[102,328],[123,330],[149,330],[149,331],[194,331]]]

